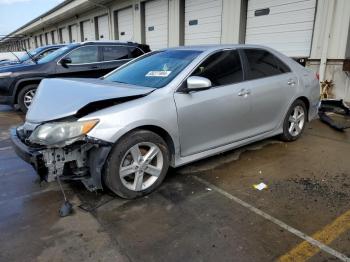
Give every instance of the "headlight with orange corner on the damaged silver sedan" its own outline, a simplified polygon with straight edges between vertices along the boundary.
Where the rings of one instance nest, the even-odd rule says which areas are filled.
[[[68,145],[86,135],[98,123],[97,119],[77,122],[47,123],[36,128],[29,141],[40,145]]]

